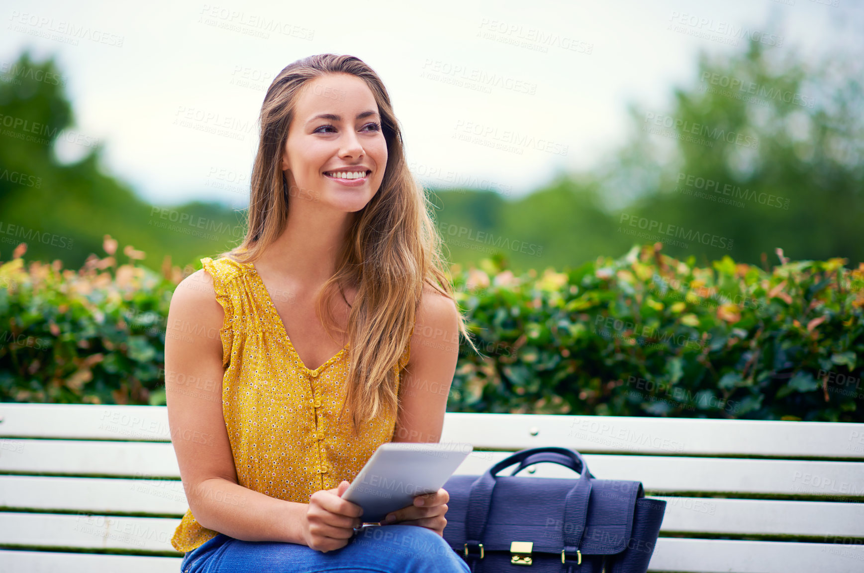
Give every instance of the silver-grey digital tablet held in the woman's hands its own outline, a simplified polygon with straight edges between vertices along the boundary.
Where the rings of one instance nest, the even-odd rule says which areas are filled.
[[[462,442],[382,443],[351,482],[342,499],[363,508],[364,523],[414,504],[416,495],[435,493],[473,451]]]

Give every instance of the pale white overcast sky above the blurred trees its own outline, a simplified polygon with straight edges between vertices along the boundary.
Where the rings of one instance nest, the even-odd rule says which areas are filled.
[[[626,137],[628,102],[664,110],[699,50],[740,50],[740,28],[774,50],[864,55],[859,0],[2,4],[0,62],[55,54],[74,131],[161,205],[245,207],[264,91],[310,54],[376,70],[421,181],[513,195],[602,161]]]

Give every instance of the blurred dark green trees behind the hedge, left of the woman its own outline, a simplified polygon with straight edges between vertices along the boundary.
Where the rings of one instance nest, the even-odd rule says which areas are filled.
[[[243,219],[230,207],[154,207],[105,175],[99,143],[73,130],[65,81],[54,58],[36,62],[26,51],[0,74],[0,260],[23,242],[29,260],[79,268],[91,252],[104,254],[110,234],[144,251],[143,263],[158,270],[166,255],[195,264],[243,236]],[[61,163],[54,153],[60,138],[86,154]]]

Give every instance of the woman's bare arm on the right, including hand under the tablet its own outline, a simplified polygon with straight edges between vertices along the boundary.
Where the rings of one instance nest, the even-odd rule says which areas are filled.
[[[459,314],[447,296],[425,288],[414,335],[411,355],[405,366],[399,390],[400,408],[393,442],[439,442],[444,427],[444,412],[456,360],[459,358]],[[402,525],[421,525],[443,535],[450,495],[445,489],[418,495],[414,506],[391,513],[391,520]],[[388,516],[389,517],[389,516]]]

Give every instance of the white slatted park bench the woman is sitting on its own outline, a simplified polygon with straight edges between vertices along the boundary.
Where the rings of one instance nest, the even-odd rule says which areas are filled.
[[[0,404],[0,572],[176,573],[164,406]],[[652,571],[864,571],[864,424],[448,413],[457,470],[563,446],[667,500]],[[534,470],[531,472],[530,470]],[[543,463],[520,475],[575,476]]]

